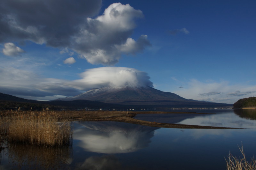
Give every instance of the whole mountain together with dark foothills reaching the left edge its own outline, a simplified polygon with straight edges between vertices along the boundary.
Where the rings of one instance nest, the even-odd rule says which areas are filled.
[[[118,90],[119,89],[119,90]],[[72,98],[65,98],[59,100],[52,101],[36,101],[36,100],[27,100],[19,97],[15,97],[12,95],[0,93],[0,109],[6,108],[10,109],[10,107],[22,107],[24,109],[42,109],[45,107],[49,107],[51,109],[77,109],[77,108],[104,108],[104,109],[121,109],[126,110],[129,108],[141,109],[143,108],[169,108],[169,107],[227,107],[232,106],[232,104],[225,103],[213,103],[213,102],[205,102],[205,101],[196,101],[196,100],[187,100],[184,99],[174,93],[162,92],[153,88],[148,89],[113,89],[113,88],[100,88],[100,89],[92,89],[88,91],[86,94],[80,94],[78,96]],[[115,92],[116,91],[116,92]],[[150,92],[150,94],[148,94]],[[154,97],[154,94],[155,97]],[[106,96],[104,96],[104,94]],[[89,96],[92,98],[100,98],[102,100],[108,100],[109,103],[103,103],[99,101],[92,100],[78,100],[77,98]],[[126,96],[129,100],[124,100],[123,97]],[[89,98],[88,97],[88,98]],[[62,101],[67,100],[68,101]],[[140,99],[140,100],[138,100]],[[163,100],[161,100],[163,99]],[[115,101],[113,103],[110,103]]]

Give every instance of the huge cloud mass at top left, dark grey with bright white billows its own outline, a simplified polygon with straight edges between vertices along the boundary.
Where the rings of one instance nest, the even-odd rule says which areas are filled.
[[[147,35],[130,38],[142,11],[111,4],[97,16],[101,0],[2,0],[0,43],[33,41],[78,53],[92,64],[114,65],[122,53],[150,45]]]

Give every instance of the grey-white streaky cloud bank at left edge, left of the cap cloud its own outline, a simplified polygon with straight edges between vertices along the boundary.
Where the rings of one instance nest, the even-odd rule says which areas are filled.
[[[65,85],[68,80],[42,78],[31,71],[13,67],[0,68],[0,79],[0,92],[26,99],[44,100],[48,96],[52,100],[56,99],[55,95],[73,96],[82,92]]]

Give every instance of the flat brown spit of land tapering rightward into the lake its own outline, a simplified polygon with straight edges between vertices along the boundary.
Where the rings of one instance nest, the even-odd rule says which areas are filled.
[[[179,128],[179,129],[241,129],[230,127],[217,127],[217,126],[201,126],[201,125],[188,125],[176,123],[161,123],[149,122],[135,119],[137,114],[215,114],[215,113],[196,113],[196,112],[157,112],[157,111],[142,111],[142,112],[126,112],[126,111],[6,111],[7,116],[16,115],[38,115],[38,116],[57,116],[61,121],[67,119],[69,121],[115,121],[126,122],[132,124],[139,124],[144,126],[159,127],[159,128]],[[2,116],[4,116],[2,112]]]

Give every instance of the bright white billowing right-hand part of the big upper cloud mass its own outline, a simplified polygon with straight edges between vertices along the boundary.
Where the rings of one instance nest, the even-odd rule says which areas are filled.
[[[142,17],[142,11],[129,4],[111,4],[98,18],[87,18],[87,25],[76,38],[79,46],[73,49],[89,63],[113,65],[122,53],[135,54],[150,45],[147,35],[137,41],[129,38],[136,26],[134,18]]]

